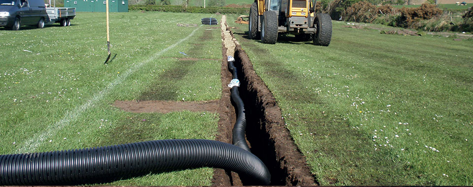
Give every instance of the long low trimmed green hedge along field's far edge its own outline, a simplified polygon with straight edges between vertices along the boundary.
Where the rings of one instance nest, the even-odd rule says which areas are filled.
[[[129,5],[130,11],[160,11],[160,12],[188,12],[188,13],[206,13],[215,14],[217,12],[221,14],[248,14],[249,8],[231,8],[231,7],[197,7],[188,6],[185,8],[180,5]]]

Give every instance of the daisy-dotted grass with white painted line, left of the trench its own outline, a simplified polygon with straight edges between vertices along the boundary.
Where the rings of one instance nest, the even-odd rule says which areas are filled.
[[[210,16],[110,13],[107,65],[104,13],[77,13],[70,27],[0,30],[0,154],[214,139],[215,113],[136,114],[112,106],[115,100],[219,99],[220,30],[176,26],[200,25]],[[212,173],[200,168],[106,185],[210,185]]]

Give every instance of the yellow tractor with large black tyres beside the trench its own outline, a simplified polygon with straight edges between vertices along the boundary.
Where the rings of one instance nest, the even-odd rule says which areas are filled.
[[[292,33],[303,41],[328,46],[332,38],[332,19],[315,12],[313,0],[255,0],[251,5],[248,37],[274,44],[278,33]]]

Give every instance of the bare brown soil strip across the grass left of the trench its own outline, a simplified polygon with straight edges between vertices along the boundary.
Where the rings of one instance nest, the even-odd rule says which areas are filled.
[[[146,101],[120,101],[117,100],[113,103],[113,106],[118,107],[127,112],[134,113],[169,113],[175,111],[188,110],[192,112],[217,112],[218,100],[211,101],[159,101],[159,100],[146,100]]]

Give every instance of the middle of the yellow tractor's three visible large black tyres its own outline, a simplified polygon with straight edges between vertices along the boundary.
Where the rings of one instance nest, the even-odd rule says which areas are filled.
[[[275,44],[277,41],[277,15],[273,11],[263,13],[263,25],[261,26],[261,41],[263,43]]]

